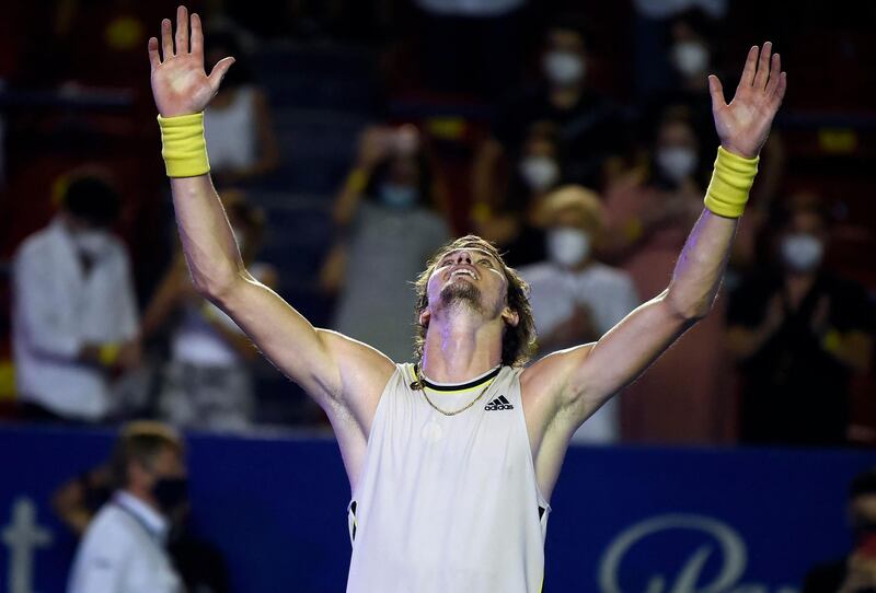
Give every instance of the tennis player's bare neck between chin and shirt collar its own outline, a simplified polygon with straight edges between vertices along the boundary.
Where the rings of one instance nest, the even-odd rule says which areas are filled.
[[[502,318],[453,312],[433,318],[423,348],[423,373],[439,383],[464,383],[502,362]]]

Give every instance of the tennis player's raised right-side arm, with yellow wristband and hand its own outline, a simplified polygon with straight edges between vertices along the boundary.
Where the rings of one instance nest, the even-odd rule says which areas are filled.
[[[762,50],[751,48],[729,105],[717,77],[708,78],[722,148],[706,208],[688,236],[669,287],[596,344],[556,352],[530,369],[537,391],[552,396],[543,398],[554,405],[545,418],[562,418],[565,430],[574,431],[710,311],[757,171],[756,159],[785,93],[785,73],[771,49],[770,43]]]

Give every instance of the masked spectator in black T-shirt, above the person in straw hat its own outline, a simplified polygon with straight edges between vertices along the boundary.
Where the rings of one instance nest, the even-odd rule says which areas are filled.
[[[625,126],[611,102],[587,84],[587,65],[580,32],[567,23],[549,30],[541,60],[543,81],[503,109],[492,136],[477,150],[472,172],[475,204],[494,204],[503,159],[520,152],[535,121],[556,126],[566,181],[601,187],[610,158],[624,150]]]

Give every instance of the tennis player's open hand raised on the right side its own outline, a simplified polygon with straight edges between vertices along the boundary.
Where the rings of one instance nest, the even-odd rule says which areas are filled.
[[[748,51],[739,86],[729,105],[724,101],[718,78],[708,77],[712,114],[721,146],[747,159],[760,153],[785,96],[787,75],[781,71],[782,60],[779,54],[772,54],[772,47],[766,42],[762,49],[753,46]]]

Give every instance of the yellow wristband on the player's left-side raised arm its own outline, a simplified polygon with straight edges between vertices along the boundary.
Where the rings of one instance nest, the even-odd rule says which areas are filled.
[[[204,139],[204,113],[158,116],[161,127],[161,155],[168,177],[196,177],[210,171],[207,141]]]

